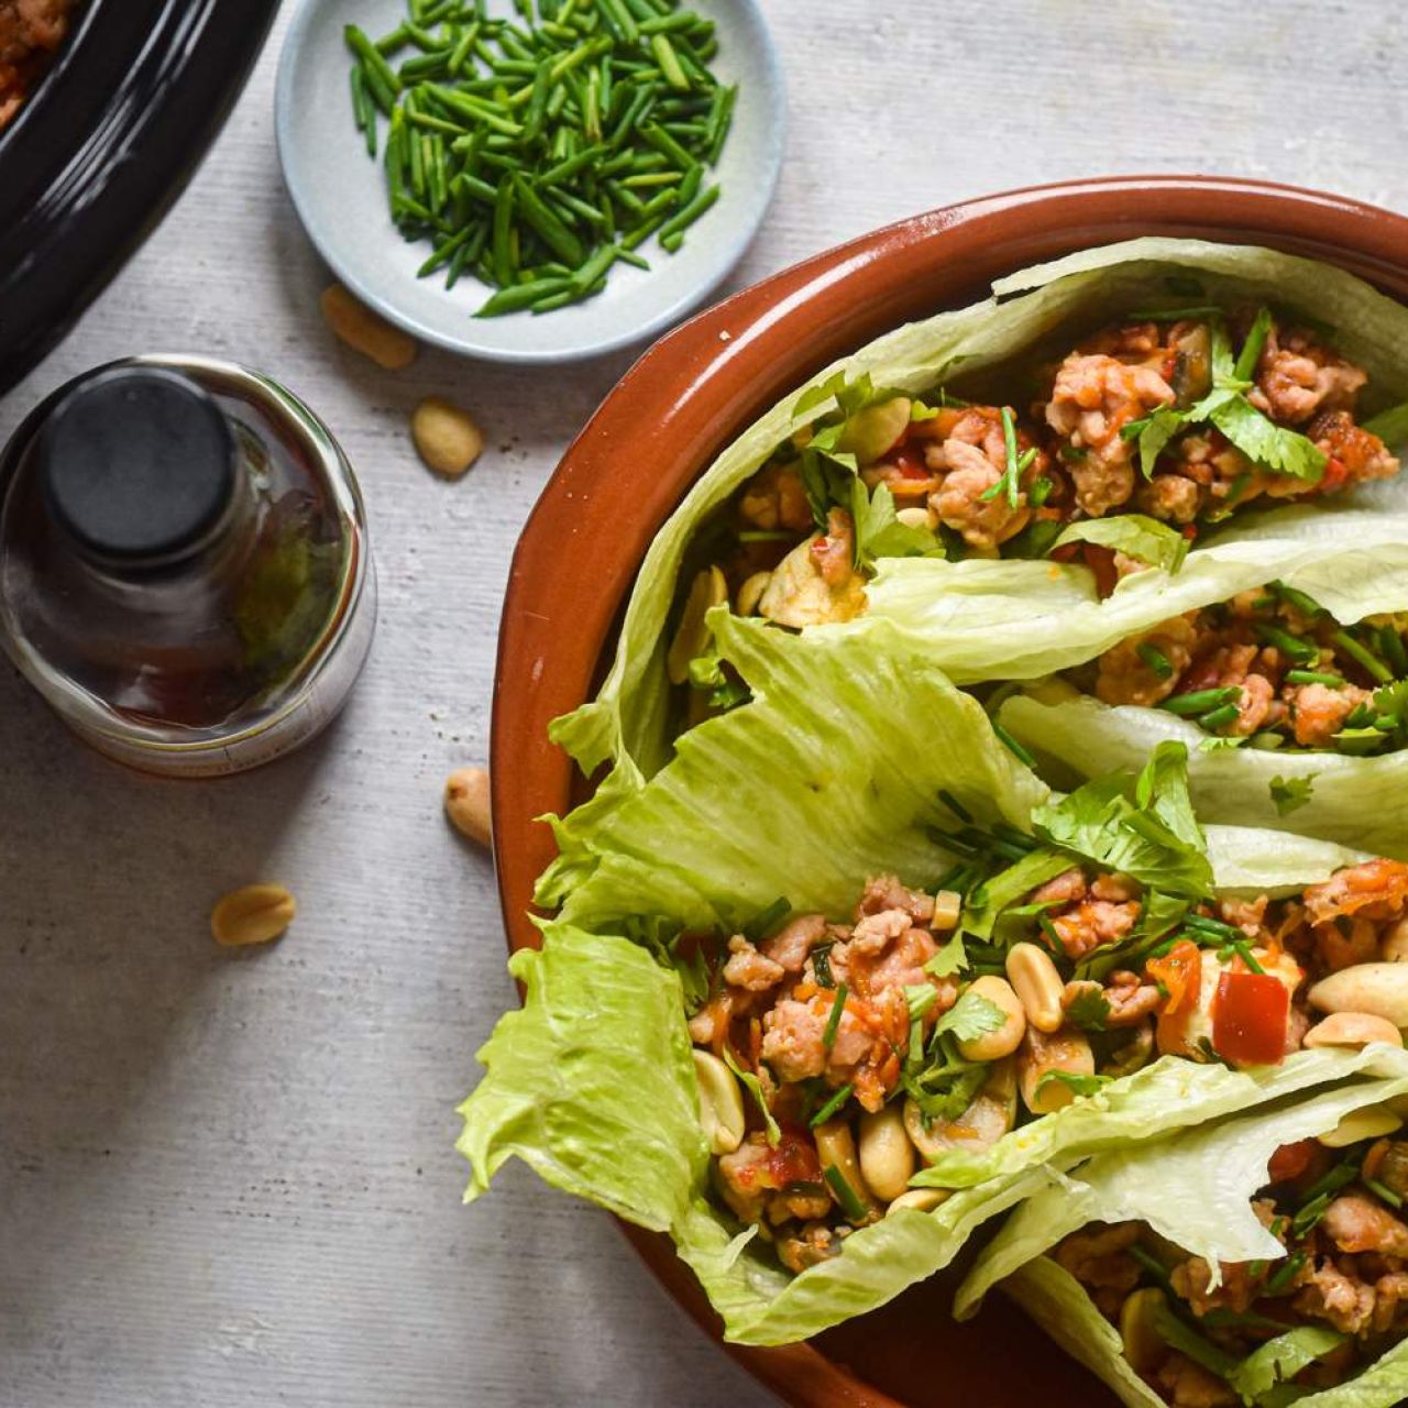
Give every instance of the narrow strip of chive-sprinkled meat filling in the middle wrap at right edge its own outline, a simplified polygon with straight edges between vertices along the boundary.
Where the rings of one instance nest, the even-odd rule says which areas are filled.
[[[1354,755],[1408,743],[1408,621],[1342,627],[1273,583],[1132,635],[1067,672],[1105,704],[1164,707],[1256,746]]]

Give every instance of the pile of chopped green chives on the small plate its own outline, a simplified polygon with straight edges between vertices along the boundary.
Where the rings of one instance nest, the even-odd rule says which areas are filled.
[[[420,276],[497,291],[479,317],[548,313],[605,287],[636,246],[673,253],[718,200],[736,87],[708,70],[714,24],[676,0],[408,0],[380,39],[345,32],[367,151],[377,113],[391,217],[428,239]],[[408,56],[403,58],[408,52]],[[393,62],[394,61],[394,62]]]

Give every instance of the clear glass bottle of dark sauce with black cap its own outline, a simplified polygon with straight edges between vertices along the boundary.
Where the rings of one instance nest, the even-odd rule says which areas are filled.
[[[215,776],[306,742],[345,703],[375,620],[352,469],[258,372],[114,362],[0,452],[0,643],[124,763]]]

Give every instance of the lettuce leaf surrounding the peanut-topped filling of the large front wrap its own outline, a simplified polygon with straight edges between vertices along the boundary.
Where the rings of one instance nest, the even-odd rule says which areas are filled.
[[[1176,914],[1204,890],[1300,891],[1363,857],[1231,826],[1209,828],[1204,856],[1177,749],[1163,750],[1138,781],[1101,780],[1055,798],[994,735],[977,701],[884,622],[865,634],[798,638],[724,612],[715,635],[750,701],[693,729],[674,760],[617,805],[558,824],[562,857],[543,898],[560,912],[543,922],[541,952],[514,956],[525,1007],[504,1017],[480,1052],[487,1074],[460,1111],[469,1198],[517,1156],[549,1183],[667,1232],[731,1339],[783,1343],[881,1305],[942,1269],[981,1222],[1098,1150],[1294,1095],[1353,1069],[1338,1052],[1301,1052],[1247,1070],[1166,1056],[1101,1079],[1091,1094],[1071,1091],[1063,1108],[981,1153],[936,1159],[914,1178],[926,1211],[911,1198],[879,1221],[863,1218],[846,1229],[839,1255],[791,1274],[759,1225],[745,1225],[718,1195],[701,1125],[707,1107],[718,1108],[717,1086],[701,1094],[698,1074],[717,1074],[717,1064],[691,1046],[687,1021],[687,1002],[698,1017],[707,994],[698,949],[681,948],[681,936],[762,932],[755,919],[776,911],[780,895],[791,914],[842,921],[877,870],[895,872],[895,883],[936,886],[963,860],[959,848],[972,852],[980,826],[1005,838],[1004,855],[1019,857],[1011,870],[1035,860],[1052,874],[1095,857],[1145,876],[1150,895],[1155,883],[1169,887]],[[955,829],[956,811],[972,826]],[[1033,815],[1041,842],[1031,835]],[[1052,865],[1052,848],[1069,855]],[[1017,919],[1022,891],[1004,890],[1005,874],[981,901],[972,888],[963,894],[972,932],[955,934],[946,948],[959,974]],[[950,1017],[963,1002],[970,1018],[981,1015],[981,1002],[959,997]],[[724,1053],[732,1059],[727,1046]],[[741,1084],[752,1080],[748,1088],[763,1104],[756,1067],[735,1073]],[[972,1097],[967,1087],[962,1098],[977,1105],[986,1088]],[[736,1088],[734,1100],[742,1100]],[[748,1139],[763,1140],[756,1108],[748,1122]]]

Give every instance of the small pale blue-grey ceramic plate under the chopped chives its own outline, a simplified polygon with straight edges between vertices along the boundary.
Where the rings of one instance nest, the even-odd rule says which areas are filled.
[[[641,246],[650,269],[618,263],[594,298],[555,313],[476,318],[491,290],[466,276],[417,279],[428,242],[408,244],[391,224],[380,156],[367,156],[352,118],[352,59],[342,27],[376,38],[406,17],[404,0],[303,0],[279,61],[275,125],[283,176],[308,238],[363,303],[407,332],[496,362],[572,362],[642,342],[700,304],[748,248],[772,200],[783,155],[784,96],[777,55],[753,0],[690,0],[715,23],[711,70],[738,84],[734,125],[718,168],[721,194],[679,252]],[[507,3],[493,13],[508,14]],[[384,142],[386,124],[380,138]]]

